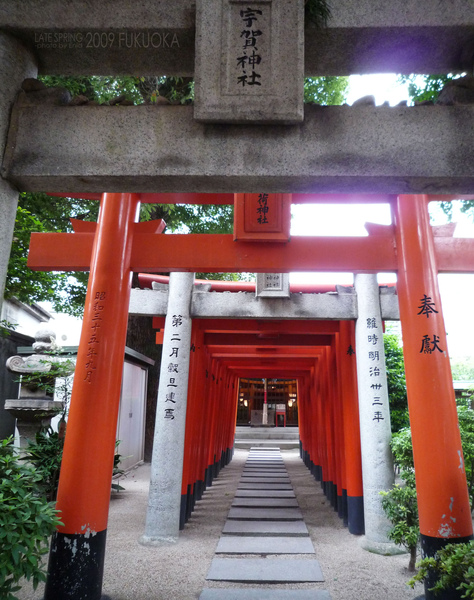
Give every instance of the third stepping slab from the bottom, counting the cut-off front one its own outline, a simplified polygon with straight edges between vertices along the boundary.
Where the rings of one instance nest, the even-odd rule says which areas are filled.
[[[220,538],[216,554],[314,554],[309,537],[243,537]]]

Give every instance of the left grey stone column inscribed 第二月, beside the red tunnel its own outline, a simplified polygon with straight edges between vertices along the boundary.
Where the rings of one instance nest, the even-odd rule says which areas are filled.
[[[140,538],[145,545],[175,542],[179,536],[193,284],[193,273],[171,273],[150,492],[145,534]]]

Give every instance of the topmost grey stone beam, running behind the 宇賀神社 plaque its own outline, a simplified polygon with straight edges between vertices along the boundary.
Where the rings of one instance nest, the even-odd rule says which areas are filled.
[[[307,75],[472,68],[474,5],[465,0],[340,0],[331,13],[324,35],[306,28]],[[45,75],[192,76],[195,14],[193,0],[3,0],[0,28],[34,50]],[[82,37],[54,48],[41,38],[48,33]]]

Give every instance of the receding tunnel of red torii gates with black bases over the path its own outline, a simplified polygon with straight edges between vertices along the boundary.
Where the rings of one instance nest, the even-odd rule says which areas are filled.
[[[354,322],[194,319],[191,339],[181,527],[232,457],[239,380],[294,379],[301,455],[349,531],[362,534]]]

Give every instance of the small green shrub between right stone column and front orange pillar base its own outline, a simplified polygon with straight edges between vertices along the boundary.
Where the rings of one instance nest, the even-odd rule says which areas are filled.
[[[395,485],[388,492],[380,494],[383,496],[382,508],[392,524],[387,534],[388,539],[410,552],[408,570],[414,571],[416,546],[420,535],[416,489],[406,483],[403,486]]]

